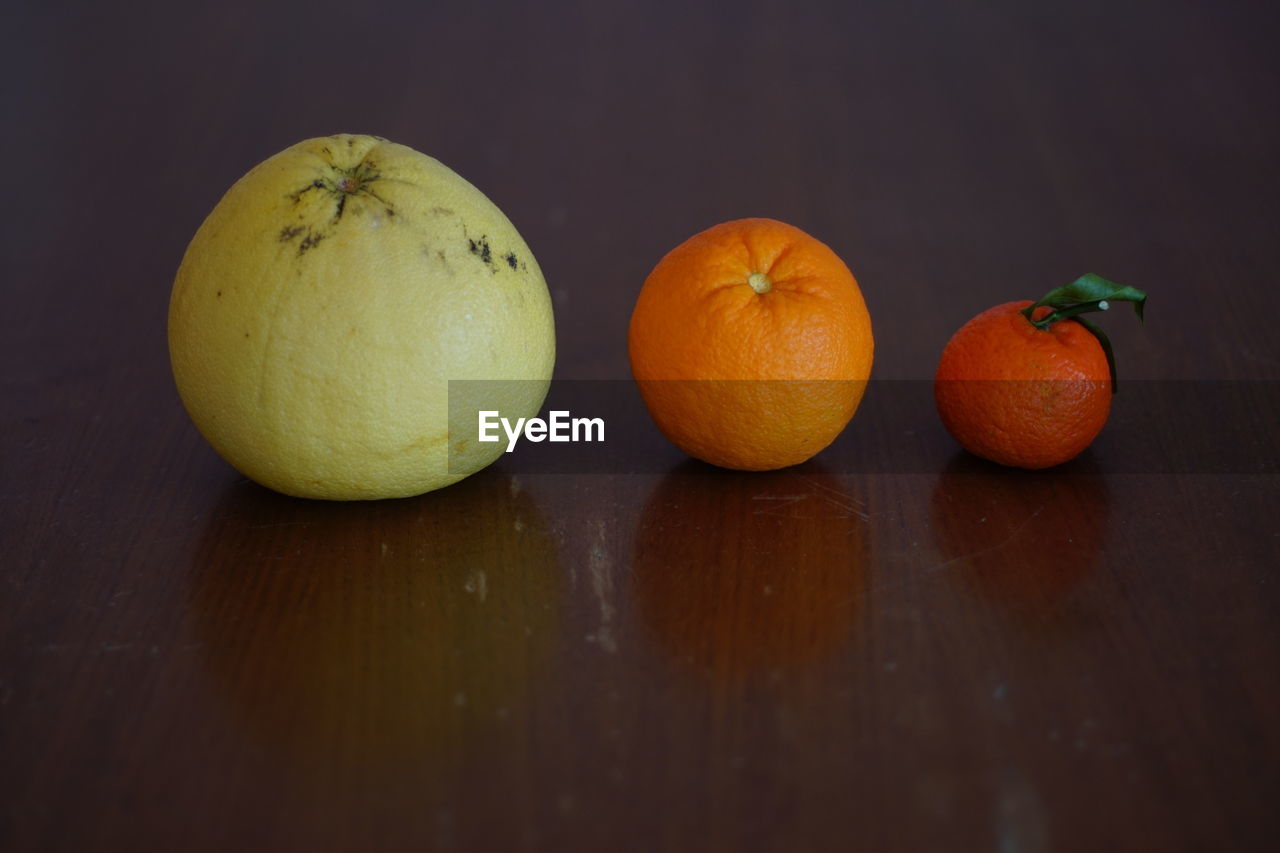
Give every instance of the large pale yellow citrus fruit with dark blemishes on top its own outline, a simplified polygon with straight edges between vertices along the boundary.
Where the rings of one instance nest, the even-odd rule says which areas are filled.
[[[227,191],[178,269],[169,355],[196,426],[246,476],[389,498],[500,456],[474,412],[535,415],[556,338],[541,270],[484,193],[413,149],[342,133]]]

